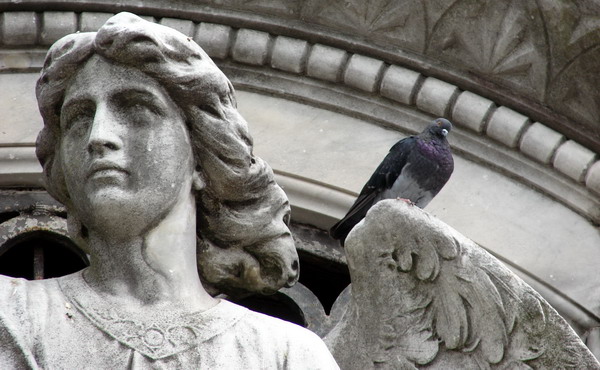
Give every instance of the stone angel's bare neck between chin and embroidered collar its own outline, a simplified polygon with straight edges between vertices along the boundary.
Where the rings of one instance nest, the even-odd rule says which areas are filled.
[[[87,283],[107,299],[130,305],[176,305],[191,311],[212,307],[215,301],[202,287],[196,267],[195,212],[189,194],[144,235],[116,241],[90,231]]]

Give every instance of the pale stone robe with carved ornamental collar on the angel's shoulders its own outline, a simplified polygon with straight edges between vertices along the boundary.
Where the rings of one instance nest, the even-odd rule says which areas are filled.
[[[110,306],[81,272],[0,276],[0,368],[338,369],[316,334],[224,300],[140,316]]]

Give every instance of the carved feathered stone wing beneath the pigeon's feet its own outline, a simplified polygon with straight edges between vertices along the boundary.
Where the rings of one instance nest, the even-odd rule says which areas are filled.
[[[448,225],[379,202],[346,240],[351,299],[325,341],[343,369],[597,369],[533,289]]]

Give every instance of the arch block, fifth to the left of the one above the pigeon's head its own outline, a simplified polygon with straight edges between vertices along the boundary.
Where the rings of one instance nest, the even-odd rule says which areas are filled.
[[[231,56],[233,60],[252,65],[263,65],[269,53],[269,34],[254,30],[239,30]]]

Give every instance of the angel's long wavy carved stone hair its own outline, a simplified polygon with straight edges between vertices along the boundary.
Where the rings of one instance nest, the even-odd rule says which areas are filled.
[[[195,42],[168,27],[120,13],[97,33],[68,35],[51,47],[36,89],[44,119],[37,156],[48,192],[69,207],[60,110],[73,76],[94,54],[155,79],[183,112],[206,184],[196,194],[198,270],[206,289],[273,292],[293,284],[298,261],[289,202],[270,167],[252,154],[233,86]]]

